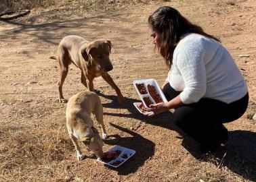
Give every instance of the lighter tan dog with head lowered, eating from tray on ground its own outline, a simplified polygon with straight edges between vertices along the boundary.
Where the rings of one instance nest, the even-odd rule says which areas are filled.
[[[103,108],[100,97],[95,92],[88,90],[75,94],[68,100],[66,107],[66,126],[68,133],[77,150],[77,159],[82,160],[83,156],[78,142],[83,142],[87,150],[91,150],[96,156],[102,157],[103,142],[100,135],[93,127],[91,113],[96,117],[102,127],[102,138],[106,138],[106,129],[103,123]]]

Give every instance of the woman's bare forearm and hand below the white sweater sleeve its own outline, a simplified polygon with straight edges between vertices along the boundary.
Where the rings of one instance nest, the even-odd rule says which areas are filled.
[[[152,111],[152,113],[150,115],[148,115],[148,117],[153,117],[154,115],[158,115],[159,113],[163,113],[165,111],[169,111],[170,109],[175,109],[177,107],[182,106],[184,103],[182,102],[182,100],[180,99],[180,96],[176,96],[175,98],[173,98],[172,100],[170,100],[169,102],[160,102],[158,104],[151,104],[150,105],[150,111]]]

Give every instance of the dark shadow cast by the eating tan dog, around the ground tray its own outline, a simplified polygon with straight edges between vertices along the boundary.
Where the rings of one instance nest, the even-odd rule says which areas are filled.
[[[131,137],[123,138],[119,135],[109,135],[108,139],[104,140],[104,143],[111,146],[119,145],[125,148],[130,148],[135,150],[136,153],[116,169],[108,165],[106,166],[112,170],[118,171],[119,175],[129,175],[130,173],[134,173],[148,158],[154,155],[155,144],[129,129],[114,125],[113,123],[110,123],[110,125],[125,133],[129,133]]]

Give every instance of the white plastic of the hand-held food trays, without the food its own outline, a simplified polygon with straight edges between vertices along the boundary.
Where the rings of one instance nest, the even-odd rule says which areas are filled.
[[[137,89],[136,84],[144,84],[147,93],[146,93],[146,94],[141,94],[140,91]],[[153,102],[154,104],[156,104],[156,102],[154,102],[154,99],[150,96],[150,94],[149,94],[149,92],[148,92],[148,84],[150,84],[150,85],[154,86],[154,88],[156,88],[156,92],[157,92],[157,93],[159,94],[159,96],[162,98],[163,102],[165,102],[165,103],[168,102],[167,99],[165,98],[165,95],[163,94],[163,91],[161,90],[160,86],[158,86],[156,80],[154,80],[154,79],[134,80],[134,81],[133,81],[133,86],[135,87],[137,93],[138,93],[139,96],[140,96],[140,99],[142,100],[142,103],[144,104],[144,106],[145,106],[146,108],[148,108],[148,107],[147,107],[146,103],[144,102],[144,99],[143,99],[144,97],[150,98],[151,102]],[[135,103],[133,103],[133,104],[135,104]],[[135,107],[136,107],[136,106],[135,106]],[[137,108],[137,107],[136,107],[136,108]],[[149,108],[148,108],[148,109],[149,109]]]

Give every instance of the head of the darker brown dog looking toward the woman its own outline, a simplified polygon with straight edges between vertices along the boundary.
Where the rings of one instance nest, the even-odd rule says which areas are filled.
[[[92,61],[103,71],[111,71],[113,69],[109,59],[111,46],[110,40],[95,40],[82,49],[82,56],[85,61]]]

